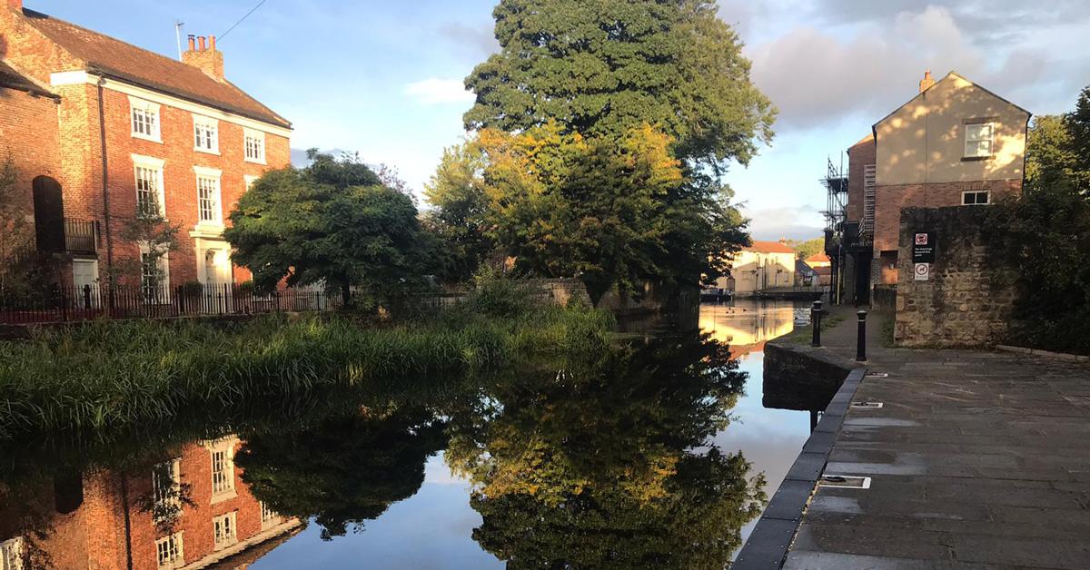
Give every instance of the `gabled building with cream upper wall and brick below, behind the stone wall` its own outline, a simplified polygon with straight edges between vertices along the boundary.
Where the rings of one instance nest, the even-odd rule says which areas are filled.
[[[897,282],[900,210],[985,206],[1021,192],[1030,112],[950,72],[848,149],[845,299]]]

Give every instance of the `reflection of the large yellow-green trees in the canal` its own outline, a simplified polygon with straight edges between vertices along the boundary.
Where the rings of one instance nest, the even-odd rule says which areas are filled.
[[[746,375],[706,338],[488,383],[451,413],[482,547],[512,568],[723,568],[764,480],[706,441]]]

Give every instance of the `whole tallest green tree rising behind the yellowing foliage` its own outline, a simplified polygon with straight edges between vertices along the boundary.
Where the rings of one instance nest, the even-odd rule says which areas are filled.
[[[559,272],[583,276],[594,296],[613,284],[635,291],[638,281],[668,292],[727,270],[748,235],[720,174],[731,160],[748,163],[771,141],[775,110],[751,83],[737,34],[716,14],[715,2],[706,0],[502,0],[496,7],[501,49],[465,81],[476,94],[467,128],[522,136],[558,126],[557,136],[593,149],[584,160],[561,153],[561,159],[545,156],[528,166],[526,174],[548,191],[524,196],[523,203],[537,203],[536,211],[523,210],[497,231],[548,239],[536,240],[536,259],[524,248],[506,247],[510,240],[497,240],[504,253],[542,275],[576,265],[573,272]],[[625,171],[632,133],[647,125],[668,137],[679,181],[641,181]],[[487,148],[483,155],[491,186],[507,184],[512,196],[530,192],[519,185],[524,178],[489,179],[494,157]],[[556,196],[562,205],[550,202]],[[433,204],[446,209],[438,198]],[[554,231],[559,217],[581,219],[584,237],[602,238],[560,234]],[[622,225],[629,228],[620,231]]]

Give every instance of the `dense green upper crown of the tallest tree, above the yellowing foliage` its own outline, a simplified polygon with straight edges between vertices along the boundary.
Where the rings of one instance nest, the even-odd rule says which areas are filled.
[[[501,0],[500,51],[465,80],[468,129],[520,131],[559,121],[586,136],[643,123],[678,156],[747,163],[775,111],[750,82],[738,34],[708,0]]]

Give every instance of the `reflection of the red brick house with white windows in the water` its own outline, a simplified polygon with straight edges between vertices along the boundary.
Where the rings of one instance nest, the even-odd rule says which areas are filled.
[[[0,526],[0,570],[245,567],[301,523],[251,495],[234,465],[240,446],[189,444],[128,474],[57,472],[0,489],[0,520],[13,525]]]

